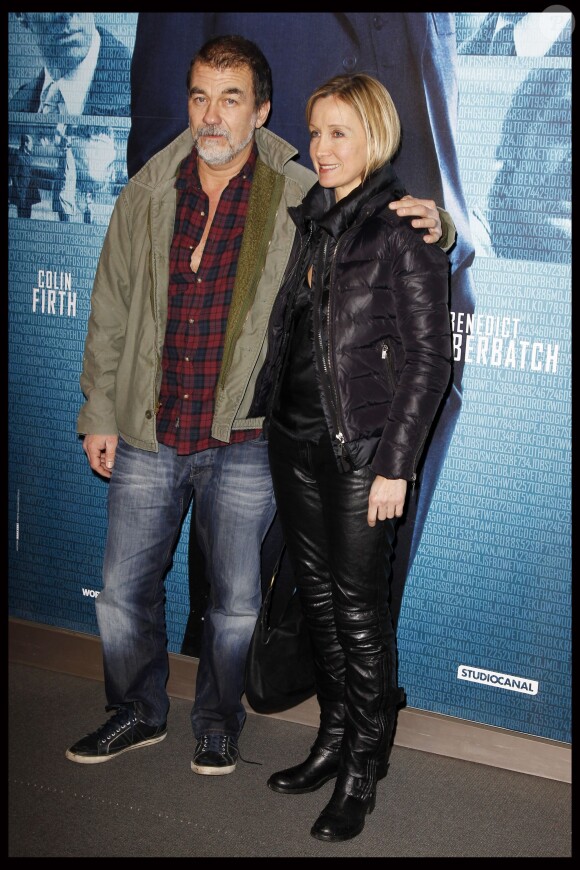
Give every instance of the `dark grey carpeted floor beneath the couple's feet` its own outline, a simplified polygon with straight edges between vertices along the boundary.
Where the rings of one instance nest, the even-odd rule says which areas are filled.
[[[395,746],[363,832],[327,844],[309,831],[332,783],[297,796],[266,786],[306,756],[309,726],[250,714],[248,763],[197,776],[191,703],[173,699],[162,743],[75,764],[67,746],[107,718],[102,683],[17,664],[9,676],[11,858],[572,855],[568,783]]]

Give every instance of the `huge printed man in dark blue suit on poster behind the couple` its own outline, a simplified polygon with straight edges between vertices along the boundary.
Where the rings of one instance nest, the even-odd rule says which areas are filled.
[[[331,76],[366,72],[381,81],[397,106],[403,147],[394,160],[397,175],[416,196],[443,205],[453,216],[457,242],[450,253],[450,307],[473,313],[474,257],[469,213],[456,151],[458,88],[455,15],[449,12],[140,12],[131,66],[129,176],[181,129],[181,65],[207,39],[239,33],[268,46],[274,105],[268,128],[292,142],[298,160],[310,167],[304,107],[312,91]],[[290,72],[291,71],[291,72]],[[424,450],[417,485],[409,493],[397,531],[391,578],[391,614],[397,622],[405,582],[461,411],[463,361],[454,365],[453,384]],[[277,522],[268,533],[264,581],[279,552]],[[199,633],[203,608],[203,559],[190,538],[191,625],[183,651],[196,655],[190,638]],[[284,560],[285,561],[285,560]],[[281,574],[286,583],[283,563]],[[291,578],[288,578],[291,579]],[[198,606],[201,605],[201,606]]]

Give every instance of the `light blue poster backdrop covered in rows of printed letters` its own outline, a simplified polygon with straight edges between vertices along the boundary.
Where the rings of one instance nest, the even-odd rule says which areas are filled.
[[[173,15],[153,14],[159,30]],[[305,13],[304,23],[318,14]],[[345,32],[368,16],[375,37],[387,39],[388,13],[341,15]],[[520,16],[511,54],[491,47],[504,29],[497,13],[445,18],[454,25],[446,75],[457,83],[476,305],[452,311],[463,406],[406,582],[400,682],[411,707],[569,742],[573,22],[563,13]],[[128,105],[124,52],[134,50],[137,13],[95,19],[123,47],[109,78]],[[267,23],[275,45],[281,20],[269,13]],[[313,35],[322,56],[325,33]],[[282,72],[273,67],[276,95]],[[41,69],[31,31],[11,15],[9,98]],[[177,129],[186,123],[184,86],[182,97]],[[9,613],[88,634],[98,633],[107,484],[90,472],[75,429],[92,279],[127,179],[131,117],[121,105],[111,115],[55,116],[20,100],[9,112]],[[19,213],[12,178],[24,135],[33,140],[30,217]],[[62,136],[76,174],[68,221],[54,199]],[[438,202],[456,216],[444,182]],[[190,608],[188,532],[189,518],[166,582],[171,652],[181,649]]]

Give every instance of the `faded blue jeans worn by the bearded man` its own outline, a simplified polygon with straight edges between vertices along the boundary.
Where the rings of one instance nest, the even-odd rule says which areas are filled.
[[[104,588],[96,601],[107,703],[132,707],[149,725],[167,719],[164,578],[192,495],[210,584],[192,727],[196,738],[214,731],[237,739],[262,597],[260,549],[276,512],[262,437],[189,456],[119,440],[109,481]]]

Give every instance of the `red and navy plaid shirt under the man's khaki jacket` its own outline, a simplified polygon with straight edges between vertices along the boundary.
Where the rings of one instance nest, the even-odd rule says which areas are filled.
[[[256,157],[254,148],[223,191],[197,272],[192,272],[190,260],[207,223],[209,199],[201,188],[195,148],[181,164],[175,183],[157,437],[179,454],[223,446],[210,435],[214,394]],[[255,438],[258,431],[232,432],[230,443]]]

